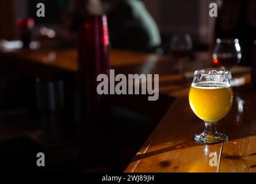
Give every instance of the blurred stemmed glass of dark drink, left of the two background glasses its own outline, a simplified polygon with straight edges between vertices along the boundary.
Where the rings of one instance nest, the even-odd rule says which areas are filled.
[[[183,70],[184,63],[189,60],[192,51],[192,39],[189,34],[174,34],[171,39],[171,54],[178,60],[177,68]]]

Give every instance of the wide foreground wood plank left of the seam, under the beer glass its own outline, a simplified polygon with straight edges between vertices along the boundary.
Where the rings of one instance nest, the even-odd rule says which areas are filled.
[[[226,118],[220,121],[223,132]],[[177,98],[165,116],[137,152],[125,172],[217,172],[210,166],[209,154],[215,152],[220,158],[222,143],[197,144],[195,133],[202,132],[204,125],[189,107],[188,98]]]

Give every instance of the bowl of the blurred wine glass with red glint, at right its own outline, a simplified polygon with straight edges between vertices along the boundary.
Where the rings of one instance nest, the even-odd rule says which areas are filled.
[[[217,39],[213,51],[213,63],[217,66],[230,70],[240,62],[241,48],[238,39]]]

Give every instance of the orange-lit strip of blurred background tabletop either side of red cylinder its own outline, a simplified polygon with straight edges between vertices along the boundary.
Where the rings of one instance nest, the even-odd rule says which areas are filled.
[[[72,72],[78,70],[76,49],[20,49],[17,51],[1,51],[0,49],[0,56],[1,62],[4,62],[4,59],[18,59],[22,60],[22,64],[25,66],[29,63]],[[110,51],[110,65],[112,67],[131,66],[148,62],[148,60],[160,61],[162,60],[161,57],[153,54],[112,49]]]

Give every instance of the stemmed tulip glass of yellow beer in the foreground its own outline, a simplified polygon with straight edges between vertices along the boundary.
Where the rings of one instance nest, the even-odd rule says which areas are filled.
[[[233,91],[228,70],[197,70],[189,91],[189,105],[204,120],[205,131],[194,135],[198,143],[213,144],[228,140],[216,131],[217,121],[227,115],[233,104]]]

